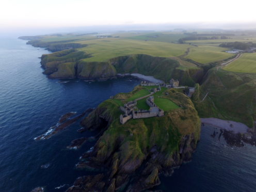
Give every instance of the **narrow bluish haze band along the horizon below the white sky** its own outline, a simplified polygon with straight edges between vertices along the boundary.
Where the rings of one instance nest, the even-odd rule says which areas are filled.
[[[253,27],[250,27],[253,26]],[[256,22],[251,24],[136,24],[136,25],[98,25],[98,26],[77,26],[77,27],[43,27],[43,28],[5,28],[0,30],[2,37],[34,36],[56,33],[116,33],[118,31],[181,31],[181,30],[256,30]]]

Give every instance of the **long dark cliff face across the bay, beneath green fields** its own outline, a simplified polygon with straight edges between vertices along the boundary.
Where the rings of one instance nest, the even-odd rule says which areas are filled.
[[[179,62],[170,58],[137,54],[110,59],[106,62],[87,62],[90,55],[74,49],[42,55],[41,65],[44,74],[50,78],[83,78],[103,81],[118,73],[140,73],[154,76],[168,82],[171,77],[181,84],[193,86],[200,81],[203,70],[178,69]],[[66,70],[65,70],[66,69]]]

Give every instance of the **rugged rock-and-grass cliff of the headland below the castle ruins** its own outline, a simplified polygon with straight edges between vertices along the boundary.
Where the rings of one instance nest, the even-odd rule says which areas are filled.
[[[119,123],[120,103],[115,98],[99,105],[82,124],[104,130],[77,168],[103,172],[78,178],[67,191],[141,191],[160,183],[158,174],[190,161],[200,138],[200,119],[184,94],[167,90],[167,97],[183,107],[165,116]]]

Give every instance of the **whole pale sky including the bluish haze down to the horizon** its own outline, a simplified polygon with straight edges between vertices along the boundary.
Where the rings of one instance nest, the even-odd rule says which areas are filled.
[[[117,30],[256,29],[249,0],[10,0],[0,8],[0,34],[39,35]],[[251,6],[248,6],[251,5]]]

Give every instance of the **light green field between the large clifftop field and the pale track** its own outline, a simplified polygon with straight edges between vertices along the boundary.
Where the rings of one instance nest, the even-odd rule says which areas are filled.
[[[220,61],[233,55],[231,53],[223,52],[226,50],[228,49],[218,46],[199,45],[192,47],[186,58],[195,60],[200,63]]]

